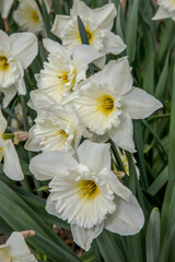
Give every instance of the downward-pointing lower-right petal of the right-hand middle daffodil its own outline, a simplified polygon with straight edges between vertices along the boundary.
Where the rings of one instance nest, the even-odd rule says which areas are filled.
[[[128,114],[122,112],[119,126],[117,128],[113,127],[113,129],[107,132],[117,146],[127,150],[130,153],[136,152],[132,139],[133,127],[131,118]]]

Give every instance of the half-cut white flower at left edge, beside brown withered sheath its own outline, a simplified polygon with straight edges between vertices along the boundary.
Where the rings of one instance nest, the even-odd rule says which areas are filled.
[[[7,139],[8,135],[4,133],[7,126],[7,120],[0,109],[0,162],[3,157],[3,171],[10,179],[22,180],[24,175],[21,169],[19,156],[12,140]]]

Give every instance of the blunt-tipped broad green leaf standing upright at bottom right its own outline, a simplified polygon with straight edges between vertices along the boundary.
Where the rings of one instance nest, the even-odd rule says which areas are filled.
[[[160,257],[160,212],[152,210],[147,228],[147,262],[159,262]]]

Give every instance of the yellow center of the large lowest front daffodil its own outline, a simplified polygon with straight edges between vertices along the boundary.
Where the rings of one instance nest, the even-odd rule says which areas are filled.
[[[100,189],[93,180],[82,179],[78,183],[78,192],[81,198],[93,200],[100,193]]]

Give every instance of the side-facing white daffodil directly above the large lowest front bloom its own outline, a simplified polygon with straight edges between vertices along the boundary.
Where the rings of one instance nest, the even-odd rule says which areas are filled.
[[[73,152],[82,135],[89,134],[70,106],[62,108],[51,105],[51,108],[39,108],[37,114],[35,124],[28,132],[26,150]]]

